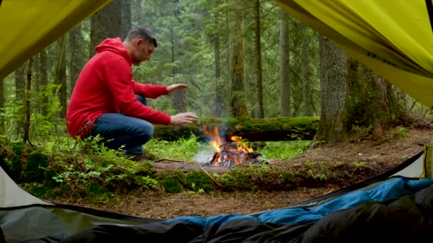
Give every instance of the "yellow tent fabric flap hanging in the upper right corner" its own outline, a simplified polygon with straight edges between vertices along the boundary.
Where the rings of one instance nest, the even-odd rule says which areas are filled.
[[[276,2],[400,90],[432,107],[432,0]]]

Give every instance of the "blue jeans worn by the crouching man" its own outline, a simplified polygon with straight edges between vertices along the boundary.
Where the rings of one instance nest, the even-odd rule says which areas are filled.
[[[145,97],[136,95],[138,101],[147,104]],[[119,113],[101,115],[90,132],[91,136],[100,135],[105,140],[105,146],[117,150],[125,145],[127,155],[141,154],[142,145],[153,136],[154,126],[143,119],[127,117]]]

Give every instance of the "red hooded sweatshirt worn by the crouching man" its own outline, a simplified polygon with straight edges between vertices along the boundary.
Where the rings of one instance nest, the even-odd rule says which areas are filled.
[[[132,80],[131,58],[120,38],[107,38],[81,70],[66,111],[71,136],[85,138],[100,115],[118,113],[168,125],[171,117],[141,104],[135,95],[157,98],[167,86],[144,85]]]

